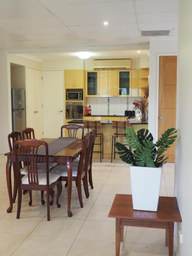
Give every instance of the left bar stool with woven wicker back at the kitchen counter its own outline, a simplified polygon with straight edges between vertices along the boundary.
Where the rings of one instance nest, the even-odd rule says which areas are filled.
[[[89,132],[89,129],[95,130],[95,136],[100,137],[100,143],[95,143],[94,145],[100,146],[100,151],[93,151],[93,153],[100,153],[100,162],[101,162],[101,154],[103,158],[103,133],[97,133],[97,129],[101,129],[101,121],[90,121],[84,120],[83,127],[86,128]]]

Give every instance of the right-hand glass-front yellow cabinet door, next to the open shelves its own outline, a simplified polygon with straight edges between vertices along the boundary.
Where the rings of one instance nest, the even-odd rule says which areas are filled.
[[[131,70],[117,70],[117,96],[131,96]]]

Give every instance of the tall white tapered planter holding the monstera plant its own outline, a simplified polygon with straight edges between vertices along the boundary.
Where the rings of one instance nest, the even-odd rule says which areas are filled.
[[[157,211],[162,168],[130,166],[133,209]]]

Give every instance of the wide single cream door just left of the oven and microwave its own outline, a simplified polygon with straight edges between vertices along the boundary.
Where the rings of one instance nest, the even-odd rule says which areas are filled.
[[[58,138],[64,124],[63,71],[43,71],[43,137]]]

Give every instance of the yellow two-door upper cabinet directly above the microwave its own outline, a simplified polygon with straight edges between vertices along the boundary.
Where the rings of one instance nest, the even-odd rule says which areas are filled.
[[[65,88],[66,89],[83,89],[83,70],[82,69],[65,70]]]

